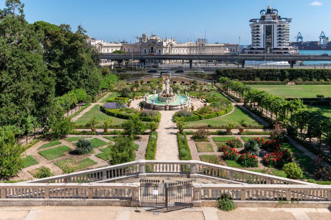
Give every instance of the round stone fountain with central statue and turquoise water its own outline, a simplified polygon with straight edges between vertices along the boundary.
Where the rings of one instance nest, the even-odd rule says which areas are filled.
[[[172,91],[169,84],[170,80],[166,77],[165,86],[161,93],[149,94],[144,96],[145,108],[154,110],[179,110],[191,105],[191,97],[185,93],[185,95],[177,94]]]

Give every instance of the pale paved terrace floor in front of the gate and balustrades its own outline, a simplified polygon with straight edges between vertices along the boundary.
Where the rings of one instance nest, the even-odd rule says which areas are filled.
[[[171,212],[160,212],[153,215],[149,207],[121,206],[12,206],[0,207],[0,219],[31,220],[31,219],[107,219],[111,220],[163,220],[163,219],[294,219],[327,220],[331,218],[331,210],[327,208],[250,208],[239,207],[230,212],[224,212],[215,207],[192,207]]]

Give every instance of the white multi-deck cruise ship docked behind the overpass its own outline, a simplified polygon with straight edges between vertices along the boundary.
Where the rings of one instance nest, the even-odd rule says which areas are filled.
[[[297,49],[290,46],[290,22],[292,18],[282,18],[277,9],[267,6],[260,11],[260,18],[250,20],[252,44],[245,53],[296,54]]]

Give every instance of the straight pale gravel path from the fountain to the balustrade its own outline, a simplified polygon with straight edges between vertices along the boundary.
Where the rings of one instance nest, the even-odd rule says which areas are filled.
[[[175,111],[160,111],[161,122],[158,132],[156,160],[179,160],[177,129],[172,122]]]

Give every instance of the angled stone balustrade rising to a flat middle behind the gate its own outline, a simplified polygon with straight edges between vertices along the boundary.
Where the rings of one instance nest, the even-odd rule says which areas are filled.
[[[201,161],[139,160],[125,164],[105,166],[58,176],[26,181],[26,183],[90,183],[113,181],[128,177],[181,175],[190,178],[213,178],[219,181],[249,184],[300,184],[316,185],[228,166]]]

